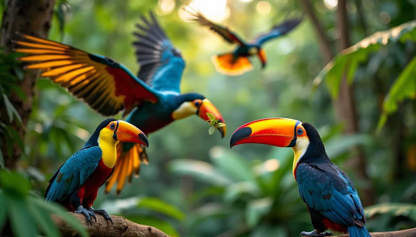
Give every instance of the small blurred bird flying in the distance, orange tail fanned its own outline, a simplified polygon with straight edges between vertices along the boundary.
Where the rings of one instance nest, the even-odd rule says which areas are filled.
[[[211,59],[215,69],[228,76],[238,76],[247,71],[251,71],[253,66],[248,59],[249,56],[257,55],[262,63],[262,68],[266,66],[266,52],[262,49],[262,44],[269,39],[282,36],[295,28],[302,20],[300,18],[286,20],[281,24],[275,25],[270,32],[259,35],[252,42],[244,42],[237,34],[230,31],[228,27],[220,26],[206,19],[198,10],[184,8],[191,15],[189,20],[196,21],[203,26],[220,34],[226,41],[231,44],[238,44],[237,49],[227,54],[214,55]]]

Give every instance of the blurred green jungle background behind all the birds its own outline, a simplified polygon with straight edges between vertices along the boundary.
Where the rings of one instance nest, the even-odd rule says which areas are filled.
[[[7,2],[2,1],[1,12]],[[209,98],[228,128],[224,139],[218,132],[208,135],[208,123],[191,116],[152,133],[150,164],[120,195],[100,190],[95,208],[172,236],[293,237],[313,230],[292,176],[291,149],[229,148],[230,135],[240,125],[290,117],[318,128],[329,157],[354,181],[370,232],[416,226],[416,1],[194,0],[206,17],[245,39],[287,17],[303,16],[290,34],[266,44],[265,70],[253,59],[253,71],[236,77],[215,71],[210,57],[230,51],[230,45],[183,19],[181,8],[189,2],[54,2],[49,39],[109,56],[133,73],[139,68],[131,46],[134,25],[154,11],[186,60],[181,91]],[[389,31],[404,23],[401,30]],[[321,71],[339,51],[380,31],[386,32],[360,42]],[[105,117],[47,78],[35,83],[29,117],[17,116],[13,98],[27,98],[17,86],[24,71],[16,56],[7,52],[0,58],[0,165],[18,173],[1,171],[0,185],[11,193],[7,205],[25,212],[10,197],[42,197],[53,172]],[[27,121],[24,132],[19,120]],[[2,213],[0,229],[7,219]],[[33,226],[35,220],[20,221]]]

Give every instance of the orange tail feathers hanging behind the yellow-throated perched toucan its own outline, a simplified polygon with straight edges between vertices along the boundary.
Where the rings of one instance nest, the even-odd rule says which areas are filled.
[[[105,192],[109,193],[117,183],[116,193],[119,194],[124,187],[126,179],[131,182],[133,176],[138,177],[141,163],[149,164],[145,147],[141,144],[134,144],[130,149],[124,151],[123,142],[117,144],[117,160],[111,177],[106,181]]]

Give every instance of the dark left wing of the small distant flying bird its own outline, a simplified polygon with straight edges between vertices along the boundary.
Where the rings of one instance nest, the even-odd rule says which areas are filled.
[[[189,6],[188,6],[189,7]],[[201,12],[199,12],[198,10],[193,10],[192,8],[190,8],[191,10],[188,10],[185,7],[184,10],[186,10],[187,12],[189,12],[189,14],[191,15],[189,17],[189,20],[194,21],[194,22],[198,22],[199,24],[201,24],[202,26],[206,26],[209,27],[211,30],[217,32],[218,34],[220,34],[226,41],[232,43],[232,44],[240,44],[240,45],[245,45],[245,42],[243,42],[243,40],[241,40],[237,34],[235,34],[234,32],[230,31],[227,27],[223,27],[220,26],[219,24],[215,24],[213,22],[211,22],[210,20],[206,19]]]

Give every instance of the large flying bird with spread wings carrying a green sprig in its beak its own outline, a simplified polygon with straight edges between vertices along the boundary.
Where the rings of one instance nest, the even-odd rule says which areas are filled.
[[[126,121],[146,135],[191,115],[209,120],[207,112],[224,122],[217,108],[203,95],[180,93],[185,61],[154,15],[150,16],[150,20],[142,17],[142,24],[137,24],[141,32],[134,33],[137,42],[133,45],[140,64],[138,76],[108,57],[29,35],[21,35],[23,40],[15,41],[21,46],[15,51],[30,54],[20,58],[30,63],[25,68],[44,71],[40,76],[67,88],[102,115],[114,115],[123,109],[124,114],[130,112]],[[224,137],[226,127],[218,130]],[[139,144],[120,142],[117,156],[106,192],[117,182],[119,193],[127,177],[131,181],[133,174],[139,173],[141,162],[148,161]]]

